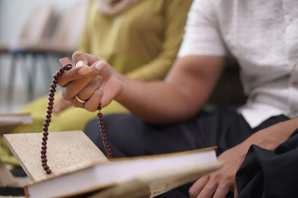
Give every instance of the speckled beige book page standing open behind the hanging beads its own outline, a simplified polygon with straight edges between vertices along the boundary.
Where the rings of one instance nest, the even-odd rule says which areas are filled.
[[[50,132],[47,141],[47,175],[41,165],[42,133],[7,134],[4,141],[32,182],[37,182],[99,162],[106,156],[82,131]]]

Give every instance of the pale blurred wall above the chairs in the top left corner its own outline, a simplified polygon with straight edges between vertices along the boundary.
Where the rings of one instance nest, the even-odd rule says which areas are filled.
[[[76,1],[78,0],[0,0],[0,42],[8,45],[13,43],[34,6],[52,3],[59,14]]]

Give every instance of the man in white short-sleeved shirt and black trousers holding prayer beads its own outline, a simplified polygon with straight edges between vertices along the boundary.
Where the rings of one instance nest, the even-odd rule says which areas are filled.
[[[103,117],[114,157],[218,146],[223,168],[158,198],[237,195],[235,175],[248,148],[274,150],[298,128],[298,20],[290,18],[297,16],[298,3],[263,3],[194,0],[178,59],[163,81],[128,78],[107,60],[82,52],[74,53],[73,61],[86,66],[74,67],[60,79],[64,99],[75,107],[93,112],[99,102],[104,109],[116,100],[132,112]],[[237,109],[205,111],[229,53],[241,67],[248,100]],[[90,73],[80,75],[82,68]],[[93,77],[97,75],[101,78]],[[105,153],[97,120],[85,133]],[[297,177],[297,169],[293,174]]]

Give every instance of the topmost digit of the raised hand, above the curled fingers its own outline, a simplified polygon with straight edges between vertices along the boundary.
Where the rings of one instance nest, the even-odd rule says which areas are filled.
[[[83,53],[83,52],[79,52],[79,51],[76,51],[73,54],[74,67],[79,66],[79,65],[90,66],[99,60],[104,60],[104,59],[101,57],[98,57],[96,55],[91,55],[91,54]]]

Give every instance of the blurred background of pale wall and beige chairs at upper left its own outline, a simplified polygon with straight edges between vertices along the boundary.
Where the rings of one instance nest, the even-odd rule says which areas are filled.
[[[77,49],[86,9],[86,0],[0,0],[0,113],[48,93],[58,59]]]

